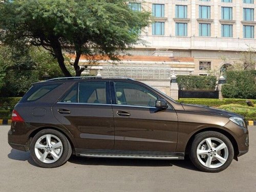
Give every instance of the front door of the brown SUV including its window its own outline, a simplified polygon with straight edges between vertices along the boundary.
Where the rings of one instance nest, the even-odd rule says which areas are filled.
[[[115,150],[175,152],[178,119],[172,106],[155,108],[160,97],[139,83],[111,84]]]

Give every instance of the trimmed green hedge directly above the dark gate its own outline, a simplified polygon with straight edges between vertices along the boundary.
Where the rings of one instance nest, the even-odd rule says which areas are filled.
[[[215,76],[177,75],[177,82],[183,89],[215,89]]]

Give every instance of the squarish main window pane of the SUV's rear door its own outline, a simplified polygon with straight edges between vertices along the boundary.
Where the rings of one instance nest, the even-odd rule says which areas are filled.
[[[106,82],[80,82],[78,87],[79,103],[106,104]]]

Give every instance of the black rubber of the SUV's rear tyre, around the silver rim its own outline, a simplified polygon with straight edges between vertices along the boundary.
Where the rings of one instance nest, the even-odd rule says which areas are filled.
[[[36,152],[35,152],[36,151],[35,150],[36,141],[38,139],[40,139],[41,137],[44,137],[45,135],[48,135],[48,134],[55,136],[62,143],[62,147],[60,147],[62,153],[59,156],[59,158],[55,162],[52,162],[52,163],[42,162],[41,160],[38,159],[38,157],[36,155]],[[46,150],[43,150],[42,153],[44,153],[45,151]],[[30,144],[30,152],[31,152],[32,159],[34,160],[34,162],[38,166],[45,167],[45,168],[54,168],[54,167],[58,167],[58,166],[61,166],[61,165],[65,164],[69,160],[69,158],[70,158],[70,156],[72,154],[72,147],[70,145],[69,140],[66,138],[65,135],[63,135],[62,133],[60,133],[60,132],[58,132],[56,130],[46,129],[46,130],[42,130],[42,131],[38,132],[32,138],[32,141],[31,141],[31,144]],[[50,156],[51,156],[51,154],[50,154]]]

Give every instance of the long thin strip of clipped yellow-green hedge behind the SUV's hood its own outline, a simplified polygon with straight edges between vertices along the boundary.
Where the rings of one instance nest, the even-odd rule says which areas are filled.
[[[183,98],[179,99],[178,102],[186,103],[186,104],[201,104],[201,105],[207,105],[207,106],[220,106],[225,104],[240,104],[247,106],[246,99],[196,99],[196,98]],[[251,99],[253,103],[256,103],[256,100]]]

